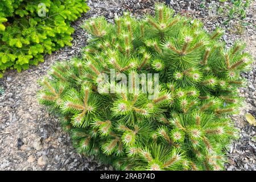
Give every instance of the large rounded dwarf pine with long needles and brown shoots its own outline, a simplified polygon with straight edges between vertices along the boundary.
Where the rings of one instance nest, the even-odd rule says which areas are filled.
[[[244,44],[226,49],[221,30],[209,35],[199,20],[173,14],[157,4],[155,17],[142,20],[89,19],[84,57],[55,64],[43,78],[39,100],[61,115],[77,151],[121,170],[224,169],[236,137],[227,116],[241,104],[240,72],[252,59]],[[115,81],[102,84],[113,69]],[[130,90],[117,84],[121,73],[130,75]],[[135,89],[136,73],[159,73],[158,97]]]

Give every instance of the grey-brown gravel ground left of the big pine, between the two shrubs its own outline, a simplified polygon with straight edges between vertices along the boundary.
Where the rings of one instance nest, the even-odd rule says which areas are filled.
[[[55,61],[80,55],[88,37],[80,28],[85,19],[104,15],[111,20],[115,13],[121,14],[133,7],[136,7],[135,13],[143,14],[152,11],[154,1],[105,0],[89,1],[88,5],[91,10],[72,25],[76,30],[72,35],[72,47],[46,55],[44,63],[27,71],[7,71],[0,79],[0,86],[5,89],[5,94],[0,94],[0,170],[113,170],[94,158],[76,153],[57,117],[38,104],[36,93],[40,87],[37,81]]]

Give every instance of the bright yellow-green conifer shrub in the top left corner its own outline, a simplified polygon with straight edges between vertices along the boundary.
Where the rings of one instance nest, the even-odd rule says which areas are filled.
[[[46,16],[38,15],[40,3],[46,5]],[[1,0],[0,71],[20,72],[42,62],[44,53],[70,46],[70,23],[88,9],[84,0]]]

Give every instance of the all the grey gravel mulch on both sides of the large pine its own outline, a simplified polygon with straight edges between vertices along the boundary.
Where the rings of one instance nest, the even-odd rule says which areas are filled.
[[[46,55],[45,61],[37,67],[16,73],[7,71],[0,79],[0,86],[5,94],[0,95],[0,170],[113,170],[94,158],[78,155],[72,146],[70,137],[61,130],[59,120],[48,114],[46,108],[38,104],[36,93],[40,90],[37,80],[47,74],[55,61],[65,61],[81,55],[81,48],[86,46],[87,34],[80,24],[90,17],[104,15],[110,22],[115,14],[131,11],[133,15],[142,17],[145,13],[154,12],[154,0],[89,0],[90,11],[72,24],[75,27],[73,46]],[[202,6],[202,2],[204,6]],[[256,2],[252,1],[247,18],[231,20],[224,25],[225,16],[209,14],[209,6],[220,7],[218,1],[171,1],[170,6],[177,13],[200,18],[205,29],[212,31],[214,27],[225,28],[223,37],[226,43],[232,44],[235,39],[247,43],[247,51],[256,57]],[[237,24],[238,23],[238,24]],[[238,30],[239,29],[239,30]],[[242,73],[248,79],[248,85],[241,88],[241,96],[246,98],[240,114],[232,119],[241,130],[240,139],[235,141],[228,152],[228,170],[256,170],[256,146],[251,140],[255,136],[256,127],[245,120],[245,113],[256,115],[255,76],[256,65],[252,70]]]

